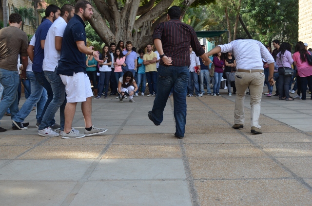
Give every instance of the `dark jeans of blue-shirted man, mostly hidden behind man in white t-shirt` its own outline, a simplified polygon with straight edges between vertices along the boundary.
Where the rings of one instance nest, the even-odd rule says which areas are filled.
[[[47,94],[48,94],[48,99],[43,107],[43,111],[42,111],[42,114],[41,114],[41,117],[39,118],[38,122],[39,124],[41,124],[41,121],[43,119],[43,115],[45,113],[45,111],[47,110],[49,104],[51,103],[51,101],[53,100],[53,90],[51,88],[51,85],[50,83],[48,82],[48,80],[45,78],[44,76],[44,72],[35,72],[34,71],[34,74],[35,74],[35,77],[36,77],[36,80],[38,81],[38,83],[40,85],[43,86],[43,88],[45,88],[45,90],[47,90]],[[55,120],[54,120],[54,117],[53,117],[53,120],[51,121],[52,124],[51,125],[54,125],[55,124]],[[51,126],[50,125],[50,126]]]

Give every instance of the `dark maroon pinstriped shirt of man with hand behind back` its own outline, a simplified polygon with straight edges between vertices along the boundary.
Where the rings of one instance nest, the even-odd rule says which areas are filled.
[[[161,40],[164,54],[172,58],[172,65],[176,67],[191,65],[190,45],[196,56],[205,53],[193,27],[178,19],[159,23],[154,30],[153,38]],[[162,60],[159,64],[165,66]]]

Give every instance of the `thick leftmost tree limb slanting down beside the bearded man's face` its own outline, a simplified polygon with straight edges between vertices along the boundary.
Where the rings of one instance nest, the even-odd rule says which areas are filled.
[[[116,42],[116,36],[106,25],[105,20],[101,17],[97,10],[93,11],[93,16],[89,23],[94,28],[98,36],[104,41],[105,44]]]

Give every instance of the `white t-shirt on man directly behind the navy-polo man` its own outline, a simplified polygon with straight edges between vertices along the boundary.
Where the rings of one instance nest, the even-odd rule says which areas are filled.
[[[59,65],[60,51],[55,49],[55,37],[63,37],[66,26],[66,21],[62,17],[59,17],[50,27],[44,43],[43,71],[54,71]]]

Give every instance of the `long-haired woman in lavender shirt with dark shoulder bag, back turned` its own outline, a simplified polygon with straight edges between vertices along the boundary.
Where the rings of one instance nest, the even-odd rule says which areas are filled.
[[[276,55],[276,65],[278,67],[278,94],[279,100],[287,100],[293,101],[293,99],[289,96],[289,84],[292,81],[292,76],[285,76],[285,69],[292,69],[292,46],[290,43],[283,42],[278,49],[278,53]],[[283,97],[285,94],[285,97]]]

